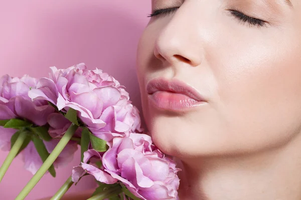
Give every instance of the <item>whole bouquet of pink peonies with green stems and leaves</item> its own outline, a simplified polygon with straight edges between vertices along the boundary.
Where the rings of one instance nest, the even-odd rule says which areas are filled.
[[[180,169],[143,133],[125,87],[84,63],[50,68],[48,78],[0,79],[0,148],[10,150],[0,181],[19,153],[34,174],[16,199],[24,199],[47,171],[55,176],[78,146],[81,163],[52,199],[85,175],[99,184],[89,199],[178,199]]]

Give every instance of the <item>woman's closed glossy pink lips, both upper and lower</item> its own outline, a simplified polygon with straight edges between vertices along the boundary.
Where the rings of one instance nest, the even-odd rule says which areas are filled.
[[[178,79],[152,79],[146,91],[155,106],[166,110],[184,111],[207,102],[196,89]]]

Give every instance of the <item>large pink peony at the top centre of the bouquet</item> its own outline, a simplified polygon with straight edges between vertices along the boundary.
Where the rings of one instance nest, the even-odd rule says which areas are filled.
[[[50,77],[41,78],[37,88],[29,92],[32,99],[46,99],[64,112],[77,110],[95,135],[142,130],[137,109],[130,104],[124,86],[112,76],[100,69],[88,70],[84,63],[51,69]],[[110,140],[112,136],[103,134],[101,138]]]

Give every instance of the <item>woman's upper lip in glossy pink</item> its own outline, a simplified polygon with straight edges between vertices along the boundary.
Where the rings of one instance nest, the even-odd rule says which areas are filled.
[[[152,79],[147,83],[146,91],[148,94],[153,94],[156,91],[169,91],[174,93],[185,94],[197,101],[206,101],[205,98],[196,89],[178,79]]]

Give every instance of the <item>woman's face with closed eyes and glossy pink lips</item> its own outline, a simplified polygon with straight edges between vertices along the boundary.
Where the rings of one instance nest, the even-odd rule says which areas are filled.
[[[301,1],[291,3],[152,0],[153,11],[167,9],[139,40],[137,75],[163,151],[250,153],[300,133]]]

